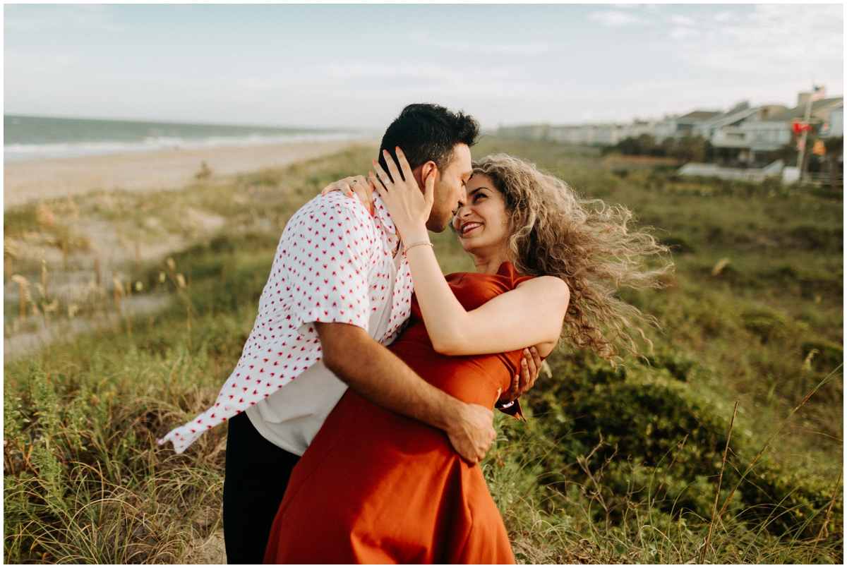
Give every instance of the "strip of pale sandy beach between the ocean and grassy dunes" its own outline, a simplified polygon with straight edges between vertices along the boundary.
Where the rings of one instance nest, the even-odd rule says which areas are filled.
[[[203,148],[70,157],[3,163],[3,209],[27,201],[80,195],[92,190],[173,190],[194,179],[206,162],[214,175],[279,168],[379,141],[334,141],[275,146]]]

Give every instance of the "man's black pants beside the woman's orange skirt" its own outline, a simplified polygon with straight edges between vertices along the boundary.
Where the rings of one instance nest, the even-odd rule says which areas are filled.
[[[270,527],[299,459],[263,438],[244,412],[232,417],[224,477],[228,564],[262,564]]]

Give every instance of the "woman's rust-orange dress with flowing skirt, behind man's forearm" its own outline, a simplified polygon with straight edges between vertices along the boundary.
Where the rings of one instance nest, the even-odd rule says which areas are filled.
[[[496,274],[447,276],[473,310],[527,277],[504,262]],[[494,406],[521,351],[442,356],[417,299],[389,348],[430,384]],[[270,564],[513,564],[512,547],[479,466],[445,433],[386,411],[348,390],[291,473],[265,551]]]

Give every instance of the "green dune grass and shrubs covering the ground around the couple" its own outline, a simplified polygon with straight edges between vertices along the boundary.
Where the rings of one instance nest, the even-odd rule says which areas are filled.
[[[840,563],[841,196],[623,170],[545,143],[474,148],[496,151],[633,208],[676,264],[666,290],[622,292],[662,323],[645,360],[616,369],[563,346],[526,396],[529,422],[496,418],[483,468],[518,561]],[[124,235],[185,246],[136,274],[173,295],[163,312],[5,365],[4,561],[192,560],[221,526],[225,428],[185,455],[154,440],[209,405],[234,367],[285,221],[373,153],[116,192],[121,207],[77,201]],[[30,209],[6,213],[7,236],[47,230]],[[225,223],[204,232],[188,210]],[[445,272],[473,269],[449,233],[433,239]]]

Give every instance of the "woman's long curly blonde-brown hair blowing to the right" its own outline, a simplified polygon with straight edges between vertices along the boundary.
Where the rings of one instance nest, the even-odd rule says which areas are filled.
[[[612,362],[620,350],[639,355],[636,336],[650,345],[642,326],[656,326],[656,319],[616,292],[662,288],[660,277],[673,270],[673,263],[664,256],[667,246],[644,230],[629,230],[632,212],[584,199],[561,179],[506,154],[477,160],[473,174],[489,178],[505,197],[507,254],[518,273],[567,283],[570,303],[562,339]]]

